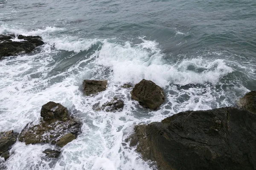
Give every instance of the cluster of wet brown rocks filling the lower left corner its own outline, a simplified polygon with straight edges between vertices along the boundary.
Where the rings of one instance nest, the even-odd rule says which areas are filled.
[[[29,122],[23,130],[15,133],[12,130],[0,132],[0,156],[5,160],[9,158],[9,149],[17,139],[26,144],[50,143],[63,147],[76,139],[81,133],[82,123],[70,116],[67,108],[55,102],[48,102],[42,106],[41,117],[43,121],[38,125]],[[60,151],[44,150],[46,156],[56,158]]]

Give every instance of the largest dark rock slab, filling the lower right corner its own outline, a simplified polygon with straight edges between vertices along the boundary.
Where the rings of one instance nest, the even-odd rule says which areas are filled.
[[[243,109],[186,111],[134,130],[130,145],[159,170],[256,169],[256,114]]]

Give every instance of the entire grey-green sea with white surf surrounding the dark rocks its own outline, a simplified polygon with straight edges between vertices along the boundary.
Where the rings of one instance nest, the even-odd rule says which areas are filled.
[[[125,143],[135,125],[235,106],[256,90],[256,0],[0,0],[0,34],[9,33],[45,44],[0,61],[0,131],[38,124],[49,101],[83,127],[58,159],[42,153],[53,145],[16,142],[7,170],[156,170]],[[107,79],[107,90],[85,96],[84,79]],[[159,110],[120,87],[142,79],[164,89]],[[92,109],[113,96],[122,112]]]

